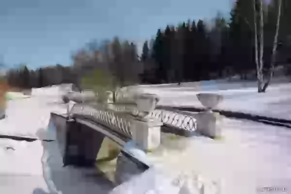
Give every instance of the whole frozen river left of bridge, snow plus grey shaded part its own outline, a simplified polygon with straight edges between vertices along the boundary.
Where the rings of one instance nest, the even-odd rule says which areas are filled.
[[[0,135],[32,137],[33,142],[0,139],[0,194],[107,194],[113,185],[97,169],[63,167],[50,112],[66,113],[57,87],[32,90],[30,98],[9,100]]]

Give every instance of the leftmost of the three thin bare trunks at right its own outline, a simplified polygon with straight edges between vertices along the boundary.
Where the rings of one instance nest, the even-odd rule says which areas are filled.
[[[253,9],[254,9],[254,28],[255,28],[255,62],[256,62],[256,66],[257,66],[258,92],[260,92],[260,88],[261,88],[261,84],[262,84],[262,81],[260,80],[262,69],[259,68],[259,60],[258,60],[258,27],[257,27],[256,4],[257,4],[257,1],[254,0]]]

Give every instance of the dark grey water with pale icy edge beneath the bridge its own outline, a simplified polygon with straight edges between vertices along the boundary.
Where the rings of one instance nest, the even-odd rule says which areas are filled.
[[[113,184],[97,168],[63,167],[59,146],[43,142],[44,178],[53,194],[108,194]]]

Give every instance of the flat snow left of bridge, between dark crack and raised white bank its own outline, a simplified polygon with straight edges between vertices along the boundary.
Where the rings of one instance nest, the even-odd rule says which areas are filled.
[[[41,97],[10,100],[6,118],[0,120],[0,134],[37,138],[37,130],[48,126],[51,111],[66,113],[66,107]],[[44,138],[51,139],[49,134]]]

